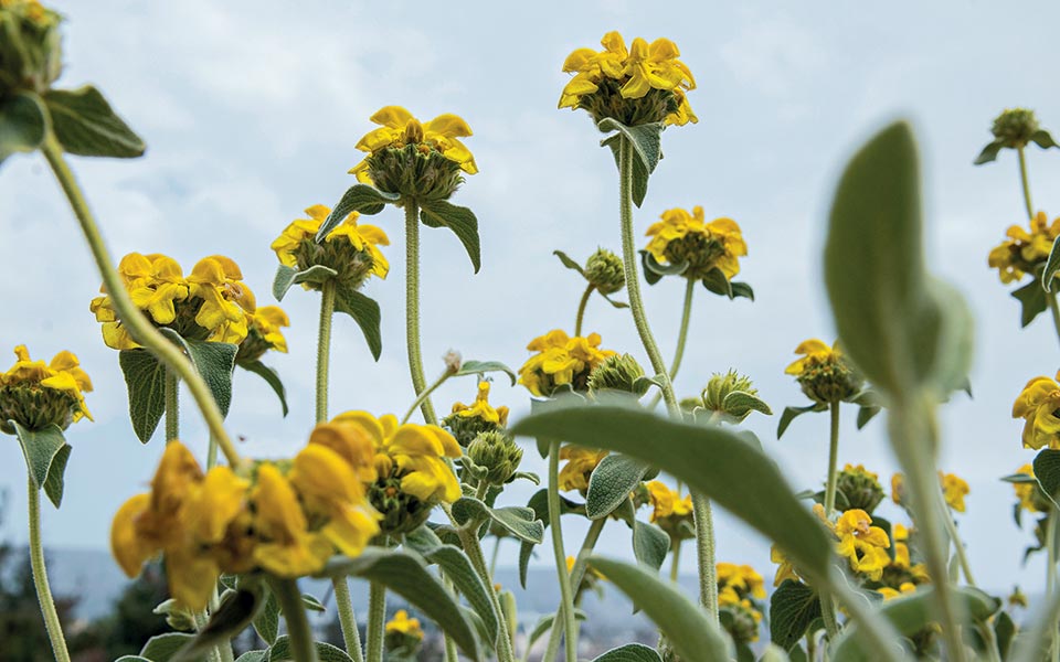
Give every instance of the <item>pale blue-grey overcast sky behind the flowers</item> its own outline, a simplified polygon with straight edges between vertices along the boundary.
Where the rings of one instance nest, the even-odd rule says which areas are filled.
[[[834,181],[851,150],[894,117],[912,119],[925,175],[928,258],[968,298],[976,317],[975,399],[957,396],[943,415],[943,467],[968,480],[968,512],[958,517],[981,581],[1011,586],[1032,540],[1011,522],[1013,490],[998,478],[1029,462],[1011,402],[1024,383],[1052,375],[1058,343],[1046,317],[1019,328],[987,252],[1005,228],[1025,223],[1015,156],[973,167],[990,139],[990,120],[1008,106],[1037,109],[1060,130],[1053,25],[1047,2],[1004,9],[988,2],[580,3],[464,2],[57,2],[65,25],[66,72],[60,85],[97,84],[145,138],[135,161],[72,159],[115,259],[166,253],[187,270],[211,254],[233,257],[261,305],[272,302],[273,238],[301,210],[332,204],[353,183],[353,149],[381,106],[403,105],[421,119],[463,116],[480,173],[455,202],[478,215],[483,269],[473,276],[448,232],[423,232],[423,334],[428,378],[453,348],[466,359],[518,369],[526,342],[553,328],[571,331],[581,282],[551,255],[583,259],[597,246],[619,249],[617,179],[611,153],[583,113],[556,110],[568,79],[566,54],[597,46],[610,30],[628,39],[672,39],[699,88],[689,95],[698,125],[667,130],[666,158],[636,212],[638,235],[664,210],[703,205],[708,218],[743,227],[750,255],[741,279],[757,300],[730,302],[698,290],[688,352],[677,387],[698,393],[730,366],[754,378],[777,413],[806,404],[784,375],[804,339],[830,342],[834,330],[820,274],[820,247]],[[1019,20],[1014,20],[1014,19]],[[1060,213],[1060,150],[1031,148],[1039,209]],[[353,322],[339,318],[332,369],[333,412],[404,412],[413,393],[404,351],[401,212],[372,223],[393,245],[385,281],[367,293],[383,308],[383,355],[372,361]],[[117,353],[100,339],[88,301],[98,275],[74,220],[39,156],[0,170],[0,348],[29,343],[34,357],[61,349],[81,356],[95,382],[95,423],[68,431],[74,455],[61,512],[45,506],[50,545],[105,547],[117,506],[150,479],[161,439],[141,446],[127,418]],[[672,352],[681,282],[646,288],[664,353]],[[292,412],[285,419],[256,376],[237,372],[230,430],[254,456],[293,455],[312,420],[312,361],[318,297],[292,290],[284,301],[290,353],[266,363],[283,375]],[[645,363],[628,311],[594,300],[587,328],[604,345]],[[10,355],[13,360],[13,354]],[[7,360],[0,363],[6,369]],[[455,381],[435,398],[439,410],[473,397],[474,380]],[[494,403],[528,409],[522,387],[499,382]],[[186,403],[182,437],[205,448],[203,427]],[[795,489],[818,487],[827,457],[827,416],[796,420],[782,441],[776,417],[749,426]],[[890,477],[894,461],[882,419],[862,433],[845,414],[840,460]],[[527,468],[543,473],[528,447]],[[14,439],[0,448],[0,485],[10,502],[4,532],[24,538],[24,472]],[[532,488],[511,491],[523,503]],[[893,506],[881,514],[899,520]],[[645,515],[646,516],[646,515]],[[575,546],[581,530],[566,535]],[[629,555],[621,524],[603,546]],[[719,559],[751,562],[772,575],[757,534],[721,516]],[[513,549],[513,547],[511,547]],[[541,554],[547,563],[550,556]],[[685,555],[691,570],[695,554]],[[1018,575],[1035,590],[1042,562]]]

